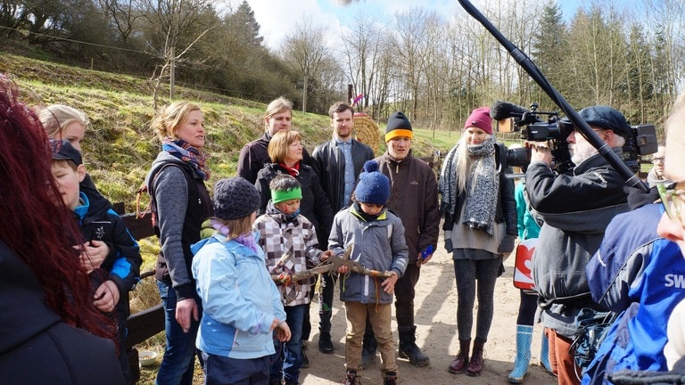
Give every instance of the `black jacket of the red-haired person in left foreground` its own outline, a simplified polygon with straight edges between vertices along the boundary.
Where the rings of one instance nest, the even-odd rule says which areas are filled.
[[[62,323],[37,277],[0,242],[0,373],[3,383],[124,383],[114,342]]]

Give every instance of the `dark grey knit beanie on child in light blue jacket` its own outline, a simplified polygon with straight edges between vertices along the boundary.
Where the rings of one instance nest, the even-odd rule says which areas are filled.
[[[214,217],[239,219],[260,208],[260,193],[240,176],[221,179],[214,184]]]

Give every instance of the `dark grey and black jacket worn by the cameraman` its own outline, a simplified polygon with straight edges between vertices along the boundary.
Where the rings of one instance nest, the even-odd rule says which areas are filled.
[[[629,209],[624,184],[600,154],[582,161],[573,176],[556,175],[544,163],[525,172],[532,209],[544,220],[532,258],[542,324],[567,338],[582,307],[603,310],[590,298],[585,266],[611,219]]]

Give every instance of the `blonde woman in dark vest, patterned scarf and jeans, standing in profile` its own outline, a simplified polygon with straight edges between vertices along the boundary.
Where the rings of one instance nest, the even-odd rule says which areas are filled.
[[[166,351],[158,384],[192,384],[195,337],[202,304],[191,272],[190,246],[200,241],[202,221],[212,215],[205,181],[210,178],[200,107],[169,104],[153,120],[161,152],[145,179],[160,237],[155,277],[165,310]]]

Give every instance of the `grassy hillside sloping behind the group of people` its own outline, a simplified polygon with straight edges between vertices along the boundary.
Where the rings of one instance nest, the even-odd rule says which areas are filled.
[[[147,79],[7,53],[0,55],[0,72],[17,82],[22,99],[29,105],[62,103],[86,111],[92,125],[83,143],[87,169],[103,195],[111,201],[125,202],[127,210],[132,210],[134,192],[160,147],[150,128],[153,88]],[[183,87],[176,88],[175,99],[202,106],[208,135],[205,150],[210,153],[212,168],[210,185],[219,178],[235,175],[241,147],[263,132],[261,117],[266,106]],[[167,102],[170,101],[164,100],[162,104]],[[331,135],[326,116],[295,111],[293,127],[302,132],[309,151]],[[447,138],[447,133],[442,134]],[[445,138],[437,142],[444,144]],[[456,138],[449,141],[454,143]],[[430,155],[431,143],[433,133],[417,128],[417,155]]]

